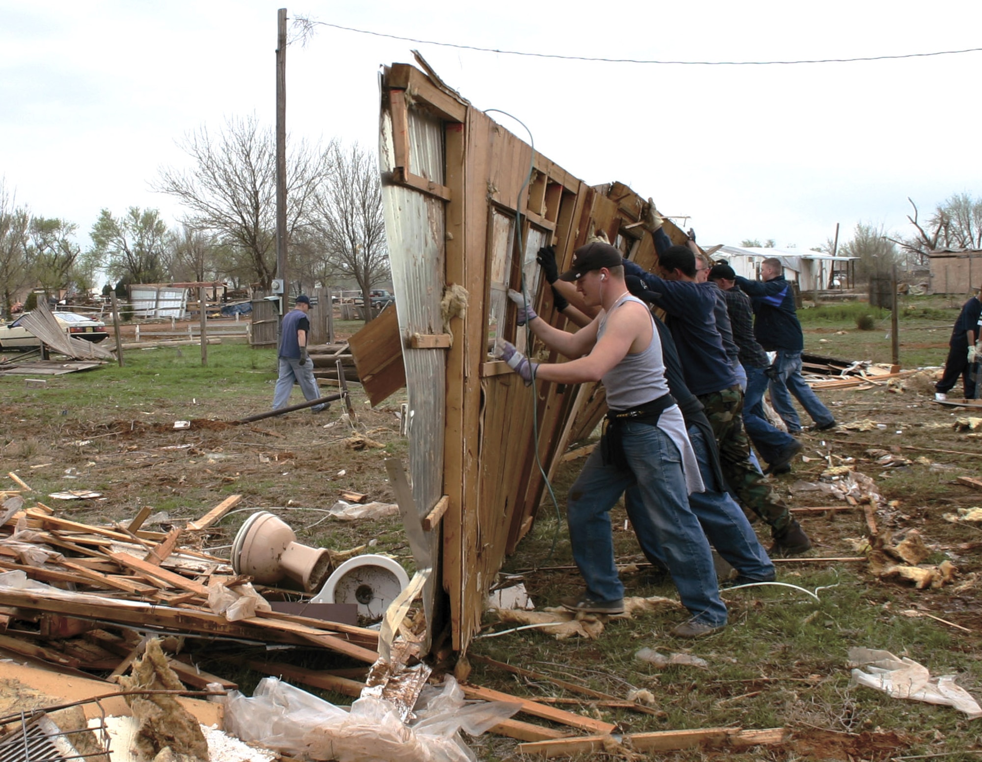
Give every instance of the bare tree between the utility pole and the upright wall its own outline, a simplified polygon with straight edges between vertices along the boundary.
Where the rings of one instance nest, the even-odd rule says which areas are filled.
[[[389,277],[378,164],[357,143],[347,151],[333,143],[328,152],[333,171],[317,192],[311,225],[328,271],[355,280],[369,307],[372,286]]]

